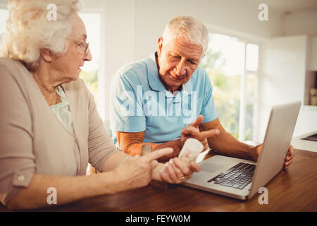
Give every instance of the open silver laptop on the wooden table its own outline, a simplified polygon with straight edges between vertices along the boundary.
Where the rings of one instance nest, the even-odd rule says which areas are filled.
[[[232,198],[252,198],[282,170],[300,107],[297,101],[272,108],[257,162],[215,155],[199,162],[201,171],[183,184]]]

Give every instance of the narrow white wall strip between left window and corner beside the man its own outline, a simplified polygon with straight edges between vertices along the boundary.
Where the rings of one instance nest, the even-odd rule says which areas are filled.
[[[128,62],[134,61],[135,54],[135,10],[134,1],[105,1],[104,13],[104,73],[99,76],[99,100],[104,100],[104,109],[99,113],[109,118],[110,81],[113,74]],[[102,77],[102,78],[101,78]],[[104,97],[104,98],[101,98]]]

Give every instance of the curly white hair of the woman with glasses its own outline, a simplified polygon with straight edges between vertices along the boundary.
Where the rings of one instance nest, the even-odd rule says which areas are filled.
[[[56,20],[49,20],[51,8],[56,6]],[[23,61],[34,71],[39,64],[40,49],[50,49],[56,54],[67,52],[66,38],[72,32],[70,15],[80,11],[82,0],[11,0],[10,16],[6,22],[1,57]]]

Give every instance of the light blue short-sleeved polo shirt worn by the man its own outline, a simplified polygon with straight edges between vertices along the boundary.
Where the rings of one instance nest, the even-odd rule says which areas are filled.
[[[111,81],[110,126],[116,131],[145,131],[144,143],[180,138],[182,128],[199,114],[203,122],[217,118],[208,74],[198,67],[182,90],[170,93],[159,79],[155,55],[123,66]]]

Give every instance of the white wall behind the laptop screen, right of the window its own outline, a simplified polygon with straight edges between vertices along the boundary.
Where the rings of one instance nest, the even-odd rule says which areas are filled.
[[[302,101],[294,136],[317,130],[317,109],[304,106],[309,37],[275,37],[261,49],[259,81],[259,134],[262,142],[273,105]]]

